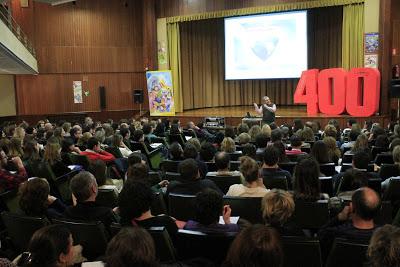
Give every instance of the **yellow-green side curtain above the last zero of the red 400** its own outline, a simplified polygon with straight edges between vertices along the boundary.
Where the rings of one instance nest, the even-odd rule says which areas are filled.
[[[364,66],[364,4],[343,6],[342,66]]]

